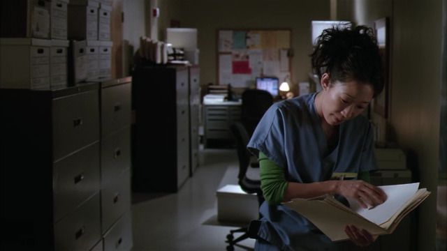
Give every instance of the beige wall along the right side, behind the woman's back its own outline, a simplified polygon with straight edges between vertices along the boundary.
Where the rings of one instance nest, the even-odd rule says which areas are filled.
[[[339,0],[337,18],[372,25],[390,17],[390,116],[387,134],[409,153],[410,167],[432,195],[418,211],[418,250],[435,249],[439,111],[441,88],[441,1]],[[374,116],[374,121],[381,122]]]

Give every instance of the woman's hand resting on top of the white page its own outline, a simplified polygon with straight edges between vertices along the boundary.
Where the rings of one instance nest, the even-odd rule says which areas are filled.
[[[374,207],[386,201],[385,192],[365,181],[336,182],[335,193],[356,200],[362,208],[367,208],[368,205]]]

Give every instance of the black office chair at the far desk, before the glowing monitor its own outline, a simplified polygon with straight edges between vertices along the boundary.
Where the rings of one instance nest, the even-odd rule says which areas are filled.
[[[241,121],[249,135],[272,104],[273,96],[268,91],[247,89],[242,93]]]

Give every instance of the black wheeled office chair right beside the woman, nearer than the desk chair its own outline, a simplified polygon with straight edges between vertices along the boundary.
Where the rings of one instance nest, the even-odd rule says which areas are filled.
[[[249,169],[251,163],[251,153],[247,149],[249,134],[240,122],[233,123],[230,126],[230,130],[231,132],[233,132],[233,135],[235,137],[237,158],[239,160],[239,173],[237,174],[237,182],[239,183],[242,190],[244,190],[244,192],[247,192],[249,194],[256,193],[259,203],[258,206],[260,206],[261,203],[264,201],[261,190],[261,181],[254,180],[247,176],[247,170]],[[243,234],[238,238],[234,238],[233,234],[235,233]],[[228,243],[226,250],[233,251],[234,245],[237,245],[238,242],[243,241],[246,238],[253,238],[253,236],[254,234],[249,233],[249,227],[242,227],[240,229],[230,230],[230,234],[226,236],[226,242]]]

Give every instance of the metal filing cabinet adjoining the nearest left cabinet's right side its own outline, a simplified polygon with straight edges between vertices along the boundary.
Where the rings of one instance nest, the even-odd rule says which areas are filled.
[[[101,83],[101,232],[105,250],[131,250],[131,77]]]

